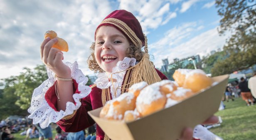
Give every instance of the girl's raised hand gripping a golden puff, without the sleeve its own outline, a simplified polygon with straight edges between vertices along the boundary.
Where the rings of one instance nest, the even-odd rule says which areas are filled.
[[[50,39],[47,37],[44,39],[40,48],[41,60],[58,77],[71,78],[70,68],[62,62],[63,53],[57,48],[52,48],[54,43],[57,42],[57,38]]]

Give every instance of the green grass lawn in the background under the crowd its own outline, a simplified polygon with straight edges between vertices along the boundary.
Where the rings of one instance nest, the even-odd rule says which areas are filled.
[[[256,140],[256,105],[246,106],[241,98],[236,98],[235,101],[224,101],[224,104],[226,109],[215,114],[222,117],[221,126],[209,130],[224,140]],[[55,126],[52,126],[52,130],[54,138]],[[14,135],[15,140],[25,139],[20,132]],[[30,140],[38,140],[38,138]]]

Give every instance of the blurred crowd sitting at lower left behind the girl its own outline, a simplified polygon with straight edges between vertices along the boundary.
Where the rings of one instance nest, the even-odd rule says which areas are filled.
[[[33,125],[31,119],[7,118],[0,122],[0,140],[15,139],[13,133],[20,131],[20,135],[24,135],[25,140],[32,138],[38,138],[39,140],[96,140],[96,125],[76,133],[66,133],[56,125],[57,134],[55,136],[52,135],[52,129],[51,125],[44,129],[40,128],[39,124]]]

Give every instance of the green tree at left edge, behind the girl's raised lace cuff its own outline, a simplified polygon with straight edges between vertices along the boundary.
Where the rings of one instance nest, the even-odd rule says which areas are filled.
[[[32,93],[44,80],[47,79],[47,72],[44,65],[37,65],[34,70],[24,68],[18,76],[11,76],[2,79],[0,86],[2,98],[0,98],[0,118],[10,115],[27,115],[30,106]]]

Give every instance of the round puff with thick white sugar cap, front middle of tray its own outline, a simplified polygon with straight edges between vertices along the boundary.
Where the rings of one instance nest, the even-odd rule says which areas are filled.
[[[141,116],[146,116],[165,107],[166,96],[159,91],[159,86],[147,86],[140,91],[136,100],[136,109]]]

